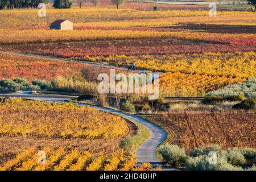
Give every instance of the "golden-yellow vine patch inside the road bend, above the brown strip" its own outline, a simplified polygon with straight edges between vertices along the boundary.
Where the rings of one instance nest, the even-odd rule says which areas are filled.
[[[14,100],[0,107],[0,135],[108,139],[127,133],[122,118],[89,106]]]

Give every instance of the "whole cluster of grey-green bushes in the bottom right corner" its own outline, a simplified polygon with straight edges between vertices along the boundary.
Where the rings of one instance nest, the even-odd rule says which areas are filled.
[[[210,163],[209,152],[216,152],[216,160]],[[255,170],[256,151],[253,148],[228,148],[222,150],[220,146],[206,146],[185,152],[184,148],[176,145],[164,144],[159,153],[165,162],[175,167],[197,171],[242,171]],[[245,164],[247,167],[245,168]],[[248,166],[249,165],[249,166]]]

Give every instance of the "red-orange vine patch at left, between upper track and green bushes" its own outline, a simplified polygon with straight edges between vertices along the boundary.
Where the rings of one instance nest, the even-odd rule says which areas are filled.
[[[79,63],[70,64],[61,61],[0,53],[0,79],[23,77],[28,81],[36,78],[52,81],[56,76],[69,77],[80,73],[83,67],[85,65]]]

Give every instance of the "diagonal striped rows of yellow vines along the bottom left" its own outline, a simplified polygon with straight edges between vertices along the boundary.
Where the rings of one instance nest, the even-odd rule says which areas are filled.
[[[126,158],[124,151],[113,154],[91,154],[79,150],[67,151],[44,147],[29,148],[17,154],[0,167],[1,171],[115,171],[131,170],[135,159]]]

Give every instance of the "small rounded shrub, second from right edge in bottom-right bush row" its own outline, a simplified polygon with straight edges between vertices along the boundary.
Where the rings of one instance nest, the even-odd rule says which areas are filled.
[[[226,158],[228,162],[234,166],[242,166],[245,164],[245,157],[238,148],[230,148],[226,151]]]

